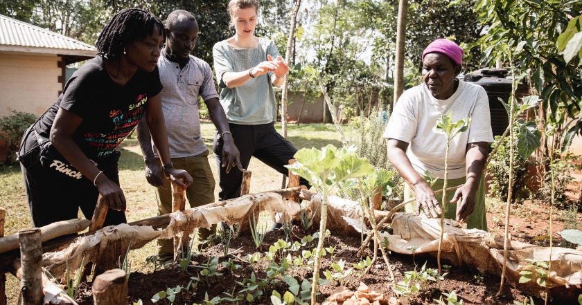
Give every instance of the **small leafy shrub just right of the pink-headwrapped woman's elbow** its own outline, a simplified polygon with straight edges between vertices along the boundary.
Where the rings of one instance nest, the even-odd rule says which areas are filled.
[[[499,140],[495,137],[495,142]],[[514,147],[515,149],[515,147]],[[521,202],[531,195],[527,188],[527,167],[530,165],[520,154],[513,154],[513,198],[512,202]],[[491,176],[489,195],[507,201],[509,190],[509,138],[505,138],[487,166],[487,175]]]

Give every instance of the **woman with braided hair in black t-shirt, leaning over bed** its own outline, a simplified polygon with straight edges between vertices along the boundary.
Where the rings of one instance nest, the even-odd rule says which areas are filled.
[[[157,17],[136,8],[118,12],[97,39],[97,56],[26,131],[19,160],[35,226],[74,219],[79,207],[91,219],[98,194],[110,208],[105,225],[126,222],[116,147],[143,116],[166,176],[184,179],[177,181],[182,187],[192,182],[168,154],[157,69],[164,41]]]

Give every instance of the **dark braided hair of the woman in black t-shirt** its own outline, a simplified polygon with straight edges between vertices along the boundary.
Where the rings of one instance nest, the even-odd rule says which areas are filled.
[[[160,19],[139,8],[125,8],[117,12],[101,31],[95,44],[97,55],[107,59],[118,59],[127,44],[143,40],[154,33],[157,27],[166,40],[164,24]]]

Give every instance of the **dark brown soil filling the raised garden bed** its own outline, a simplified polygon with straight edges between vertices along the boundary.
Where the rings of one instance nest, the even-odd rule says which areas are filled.
[[[294,227],[293,233],[295,236],[292,237],[292,241],[299,240],[299,237],[303,237],[305,234],[297,226]],[[233,239],[231,241],[230,249],[231,252],[235,252],[235,255],[229,255],[229,257],[233,259],[236,264],[240,264],[241,266],[233,273],[222,268],[222,261],[228,261],[228,258],[223,257],[222,246],[220,246],[220,243],[209,247],[205,252],[193,257],[191,264],[200,265],[214,257],[219,257],[220,263],[218,264],[218,272],[224,274],[213,277],[200,277],[201,280],[198,283],[197,288],[190,289],[189,292],[178,295],[174,304],[193,304],[194,302],[202,302],[202,304],[204,304],[206,293],[208,294],[209,299],[216,296],[227,297],[224,292],[232,293],[233,290],[236,292],[241,290],[242,287],[236,284],[236,281],[243,281],[243,279],[249,278],[252,272],[255,273],[257,279],[267,277],[265,270],[270,262],[264,258],[264,252],[266,252],[269,246],[275,243],[278,239],[285,239],[283,230],[267,233],[263,243],[263,249],[261,250],[261,261],[252,265],[249,265],[246,262],[247,255],[256,252],[252,238],[247,235],[238,237],[238,239]],[[306,247],[303,247],[302,250],[310,250],[316,246],[317,240],[314,240]],[[335,250],[333,253],[333,261],[329,254],[322,260],[322,271],[330,269],[330,264],[334,261],[337,262],[340,259],[347,261],[348,264],[346,264],[346,269],[351,268],[352,263],[358,263],[361,260],[358,253],[360,237],[340,237],[332,234],[329,239],[326,239],[325,246],[333,246]],[[290,253],[292,253],[293,257],[301,255],[300,251]],[[366,255],[372,257],[371,249],[365,250],[364,257]],[[362,272],[354,270],[354,272],[345,279],[344,286],[355,290],[358,288],[360,281],[362,281],[367,284],[371,290],[384,293],[388,297],[394,295],[391,290],[389,272],[380,256],[380,251],[378,251],[378,256],[378,261],[376,261],[376,264],[371,268],[371,271],[367,275],[360,277]],[[416,261],[418,268],[420,268],[425,261],[427,261],[427,268],[436,268],[436,261],[430,257],[420,257],[417,255],[414,257],[413,261],[413,257],[393,254],[389,255],[389,259],[394,270],[396,281],[403,280],[403,274],[405,271],[414,270],[414,261]],[[200,272],[200,270],[200,268],[188,268],[188,271],[185,272],[179,268],[179,266],[174,265],[161,268],[150,274],[132,272],[128,283],[130,295],[128,303],[133,304],[133,302],[141,299],[143,304],[152,304],[151,298],[153,295],[159,291],[166,290],[166,288],[174,288],[177,285],[183,287],[187,286],[188,282],[191,281],[191,277],[199,277],[198,272]],[[310,279],[312,277],[310,270],[311,267],[307,267],[306,264],[302,267],[291,266],[287,270],[287,274],[301,282],[303,278]],[[513,304],[514,301],[523,302],[524,299],[528,297],[519,290],[508,285],[506,285],[505,293],[502,297],[495,297],[500,282],[500,278],[497,276],[491,277],[488,275],[479,275],[476,270],[471,270],[467,267],[449,267],[447,271],[448,275],[443,281],[429,282],[423,286],[419,293],[413,293],[407,297],[400,297],[400,302],[402,304],[434,304],[433,299],[438,299],[441,296],[441,293],[449,293],[452,290],[456,291],[459,296],[459,301],[462,299],[464,304]],[[337,286],[339,286],[337,281],[321,286],[319,302],[330,295]],[[79,304],[93,304],[88,287],[90,287],[89,284],[82,287],[82,293],[80,293],[80,297],[78,297]],[[288,286],[281,281],[265,288],[266,291],[263,297],[255,299],[253,302],[247,302],[244,300],[239,302],[239,304],[271,304],[270,295],[272,290],[277,290],[281,295],[283,295],[287,288]],[[534,297],[533,300],[536,304],[543,304],[542,299]],[[164,304],[164,302],[159,302],[158,304]],[[168,302],[167,304],[170,303]],[[229,302],[222,302],[222,304],[229,304]],[[559,302],[553,302],[552,304],[569,303],[562,300]],[[572,300],[571,304],[577,304],[577,302]]]

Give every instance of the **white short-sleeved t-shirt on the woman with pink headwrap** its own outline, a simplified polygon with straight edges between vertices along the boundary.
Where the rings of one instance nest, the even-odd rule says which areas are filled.
[[[459,81],[447,100],[434,98],[426,84],[408,89],[398,99],[383,137],[409,143],[406,154],[418,174],[428,171],[444,178],[446,136],[433,129],[441,114],[449,111],[453,122],[471,118],[468,130],[453,138],[449,147],[448,178],[464,177],[467,144],[493,142],[489,101],[482,86]]]

